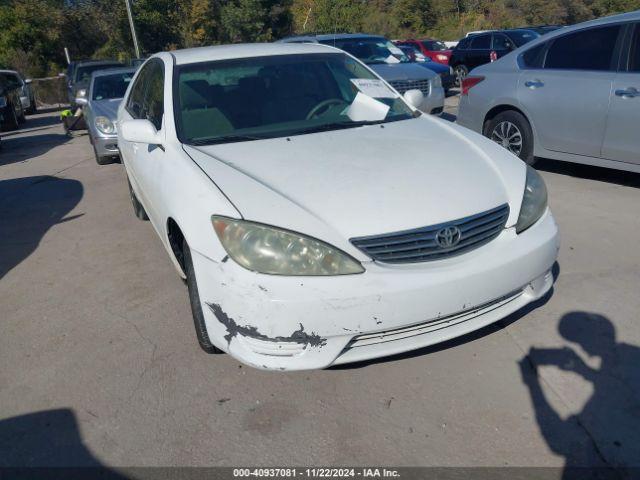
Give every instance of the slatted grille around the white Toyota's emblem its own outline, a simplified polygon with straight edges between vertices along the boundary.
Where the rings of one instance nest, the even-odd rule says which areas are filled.
[[[351,243],[374,260],[384,263],[416,263],[441,260],[466,253],[496,238],[509,217],[509,205],[452,222],[402,232],[352,238]],[[457,243],[443,247],[438,233],[457,228]]]

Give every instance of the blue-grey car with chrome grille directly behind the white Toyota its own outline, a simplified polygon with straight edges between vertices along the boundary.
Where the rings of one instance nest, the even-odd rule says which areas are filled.
[[[320,43],[353,55],[384,78],[401,94],[418,89],[424,95],[420,110],[440,114],[444,110],[444,89],[439,75],[422,68],[384,37],[361,33],[303,35],[279,40],[284,43]]]

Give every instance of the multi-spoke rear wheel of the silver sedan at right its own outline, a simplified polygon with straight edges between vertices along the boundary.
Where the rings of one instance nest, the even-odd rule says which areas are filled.
[[[487,122],[484,135],[520,157],[526,164],[534,164],[533,130],[521,113],[514,110],[499,113]]]

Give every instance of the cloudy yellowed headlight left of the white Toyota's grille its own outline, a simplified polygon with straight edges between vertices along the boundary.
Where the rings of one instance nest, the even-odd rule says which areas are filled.
[[[229,256],[248,270],[272,275],[348,275],[360,263],[320,240],[267,225],[212,216]]]

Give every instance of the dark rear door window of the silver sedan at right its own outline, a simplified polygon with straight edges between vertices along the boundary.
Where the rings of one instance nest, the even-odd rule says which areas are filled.
[[[547,52],[545,68],[612,70],[619,25],[590,28],[555,39]]]

